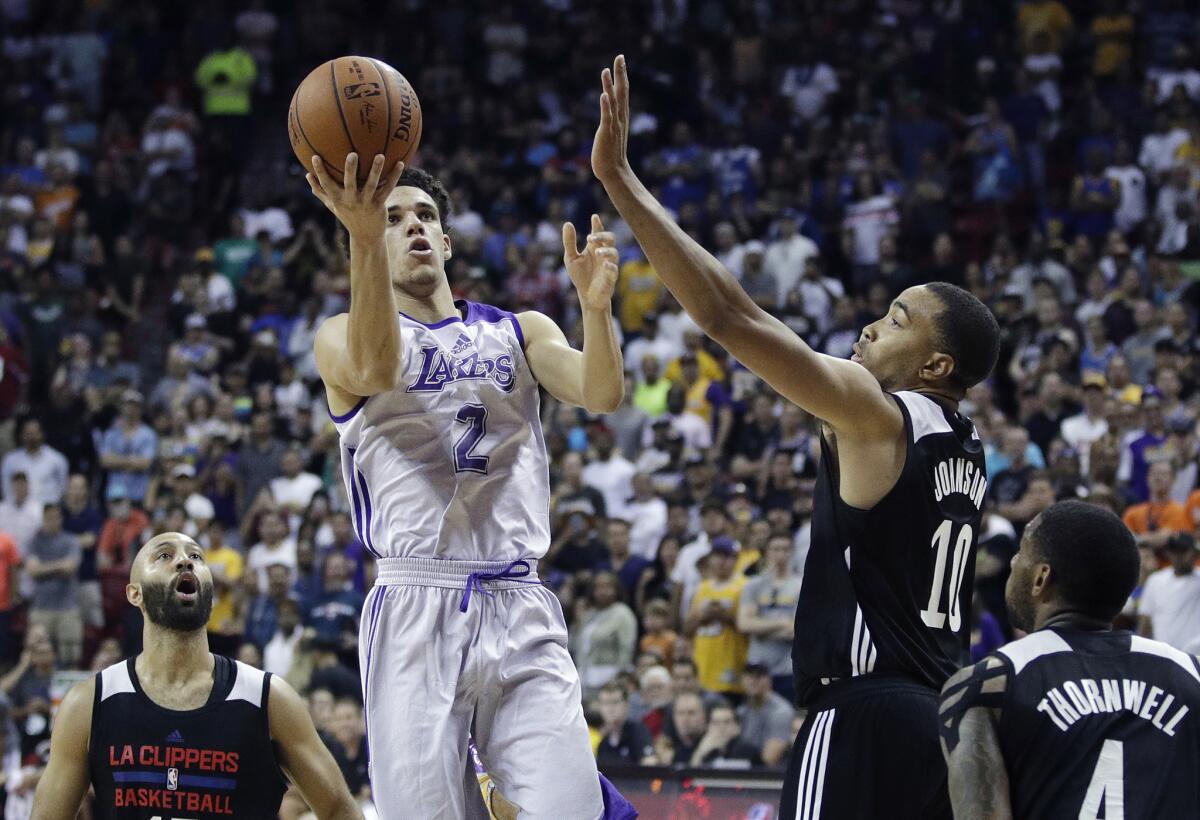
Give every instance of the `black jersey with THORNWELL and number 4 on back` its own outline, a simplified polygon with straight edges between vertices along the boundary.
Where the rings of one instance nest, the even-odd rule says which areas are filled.
[[[997,731],[1013,816],[1200,818],[1195,658],[1127,632],[1058,628],[995,657],[1008,672]]]

